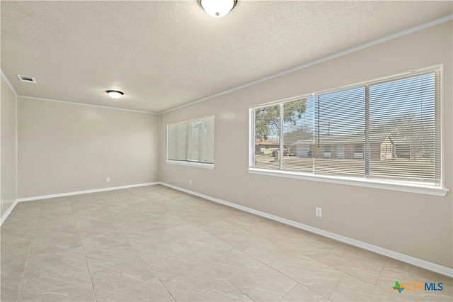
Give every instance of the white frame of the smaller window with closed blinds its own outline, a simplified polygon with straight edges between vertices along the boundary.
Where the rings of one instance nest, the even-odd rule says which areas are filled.
[[[171,160],[171,159],[168,159],[168,152],[169,152],[169,131],[170,131],[170,127],[171,126],[175,126],[175,125],[189,125],[190,123],[194,122],[194,121],[205,121],[205,120],[208,120],[212,118],[212,133],[213,134],[213,142],[212,142],[212,145],[213,145],[213,149],[212,149],[212,152],[213,152],[213,162],[202,162],[202,161],[196,161],[196,160],[189,160],[189,147],[190,147],[190,143],[189,143],[189,130],[187,130],[187,135],[186,135],[186,151],[185,151],[185,160]],[[215,165],[214,165],[214,162],[215,162],[215,150],[214,150],[214,146],[215,146],[215,116],[212,115],[212,116],[203,116],[203,117],[200,117],[200,118],[192,118],[190,120],[186,120],[186,121],[180,121],[180,122],[177,122],[177,123],[168,123],[167,124],[167,155],[166,155],[166,164],[176,164],[176,165],[180,165],[180,166],[186,166],[186,167],[197,167],[197,168],[203,168],[203,169],[214,169]]]

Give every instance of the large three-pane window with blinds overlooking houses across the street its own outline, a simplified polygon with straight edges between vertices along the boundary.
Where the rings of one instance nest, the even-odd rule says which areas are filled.
[[[251,121],[255,169],[440,184],[440,69],[251,108]]]

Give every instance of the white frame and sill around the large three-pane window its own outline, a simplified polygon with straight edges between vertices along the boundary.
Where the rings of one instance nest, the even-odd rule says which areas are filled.
[[[315,93],[311,94],[304,94],[301,96],[295,96],[288,99],[280,99],[278,101],[273,101],[266,104],[259,104],[256,106],[249,107],[249,164],[248,164],[248,172],[251,174],[261,174],[273,177],[286,177],[291,179],[303,179],[309,181],[321,181],[321,182],[328,182],[333,184],[345,184],[351,186],[363,186],[368,188],[375,188],[375,189],[386,189],[392,191],[405,191],[405,192],[412,192],[418,194],[428,194],[434,196],[445,196],[449,189],[445,188],[444,184],[444,154],[445,154],[445,147],[444,147],[444,110],[443,110],[443,95],[442,95],[442,87],[443,87],[443,65],[435,65],[432,67],[426,67],[421,69],[414,69],[409,72],[401,72],[399,74],[394,74],[389,77],[381,77],[378,79],[373,79],[370,81],[360,82],[356,84],[351,84],[347,86],[339,86],[335,89],[326,89],[323,91],[316,91]],[[411,76],[417,76],[429,72],[437,72],[440,71],[440,78],[438,79],[438,83],[440,85],[440,94],[439,94],[439,106],[440,106],[440,181],[431,182],[417,182],[417,181],[405,181],[405,180],[397,180],[397,179],[376,179],[372,178],[369,179],[367,177],[348,177],[348,176],[336,176],[336,175],[323,175],[323,174],[311,174],[307,172],[294,172],[282,169],[282,165],[280,165],[280,169],[263,169],[260,167],[255,167],[255,116],[253,114],[256,108],[263,108],[265,106],[276,106],[278,104],[284,104],[288,101],[295,101],[297,99],[317,96],[320,94],[328,94],[333,91],[340,91],[342,89],[354,89],[360,86],[371,86],[374,84],[381,84],[384,82],[391,82],[396,81],[398,79],[408,78]],[[368,110],[368,109],[367,109]],[[367,113],[368,114],[368,113]],[[280,152],[282,152],[283,144],[280,144]],[[365,147],[362,152],[365,151]],[[365,153],[362,153],[365,157]],[[282,161],[282,157],[280,157]]]

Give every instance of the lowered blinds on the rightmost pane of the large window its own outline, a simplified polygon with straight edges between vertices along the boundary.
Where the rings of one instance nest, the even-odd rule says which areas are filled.
[[[369,86],[369,177],[440,180],[440,72]]]

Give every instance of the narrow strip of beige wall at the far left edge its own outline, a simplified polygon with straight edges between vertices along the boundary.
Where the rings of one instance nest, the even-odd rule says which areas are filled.
[[[1,77],[1,217],[17,198],[17,106],[16,94]]]

